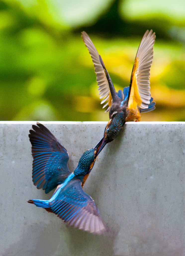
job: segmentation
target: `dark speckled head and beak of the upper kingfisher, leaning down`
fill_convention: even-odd
[[[107,126],[105,127],[104,136],[102,138],[102,142],[100,146],[97,149],[96,157],[107,143],[113,141],[117,137],[124,123],[125,123],[125,112],[114,111],[111,115],[111,119],[109,120]]]

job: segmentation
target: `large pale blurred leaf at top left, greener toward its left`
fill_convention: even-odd
[[[44,23],[76,27],[92,24],[112,0],[17,0]],[[47,18],[46,16],[47,15]]]

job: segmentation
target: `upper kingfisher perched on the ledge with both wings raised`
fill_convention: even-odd
[[[142,112],[149,112],[155,109],[155,102],[150,94],[150,68],[153,60],[153,45],[155,33],[147,30],[140,42],[134,66],[131,73],[130,85],[118,92],[115,91],[112,80],[99,55],[96,47],[85,31],[82,32],[82,39],[90,53],[94,64],[96,81],[101,104],[109,111],[109,122],[105,127],[102,143],[98,152],[109,142],[113,141],[125,122],[140,121]]]

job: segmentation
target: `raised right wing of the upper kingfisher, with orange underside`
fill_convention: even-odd
[[[147,30],[139,45],[130,79],[128,108],[148,109],[150,104],[150,68],[153,59],[155,33]]]

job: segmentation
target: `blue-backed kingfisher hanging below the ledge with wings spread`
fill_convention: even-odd
[[[56,188],[49,200],[31,199],[29,203],[55,213],[63,222],[101,234],[107,231],[95,201],[84,192],[83,185],[95,163],[101,141],[81,156],[74,172],[68,168],[69,154],[55,136],[42,124],[32,125],[33,183],[47,194]]]

